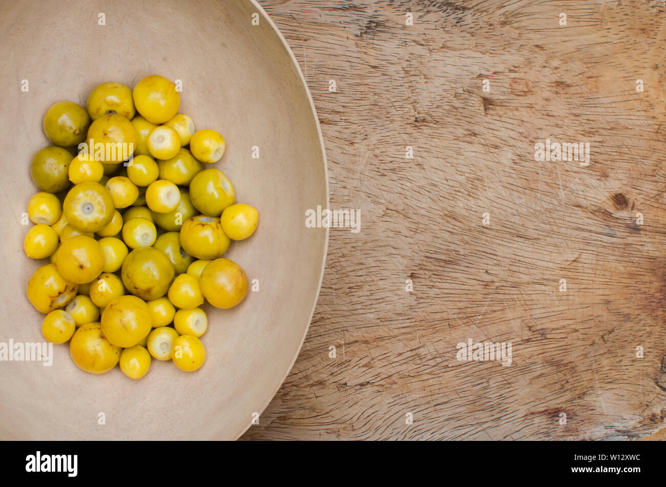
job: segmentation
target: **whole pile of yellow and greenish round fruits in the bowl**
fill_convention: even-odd
[[[153,75],[133,90],[105,82],[86,108],[62,101],[44,116],[54,145],[31,163],[41,192],[23,248],[50,263],[27,295],[46,315],[45,339],[69,341],[84,371],[120,363],[141,379],[151,356],[195,371],[206,358],[204,299],[226,309],[248,292],[242,267],[222,255],[254,233],[258,212],[236,204],[222,171],[204,169],[224,138],[195,130],[179,106],[176,85]]]

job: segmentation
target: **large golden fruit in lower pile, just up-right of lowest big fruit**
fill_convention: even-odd
[[[136,296],[120,296],[102,313],[102,333],[117,347],[134,347],[153,327],[148,306]]]

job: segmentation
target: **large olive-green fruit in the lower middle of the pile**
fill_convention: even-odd
[[[131,251],[121,274],[127,290],[146,301],[163,297],[176,275],[164,252],[153,247]]]

